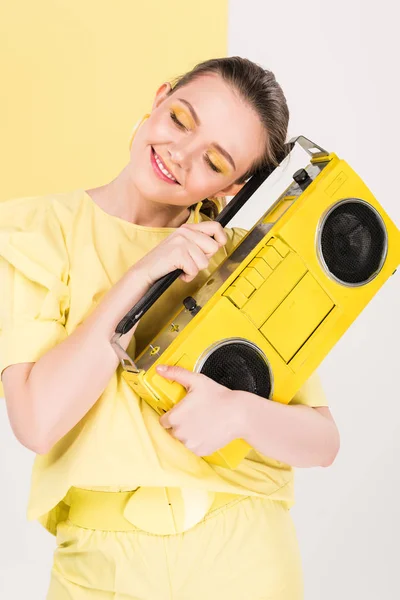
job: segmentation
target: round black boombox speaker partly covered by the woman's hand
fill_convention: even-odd
[[[210,349],[199,372],[231,390],[252,392],[263,398],[271,394],[271,372],[266,359],[257,346],[246,340],[226,340]]]

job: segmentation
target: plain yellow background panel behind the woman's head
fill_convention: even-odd
[[[227,0],[0,0],[0,200],[112,180],[157,88],[227,55],[227,17]]]

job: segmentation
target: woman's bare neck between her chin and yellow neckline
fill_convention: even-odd
[[[110,183],[88,190],[106,212],[144,227],[179,227],[189,217],[189,209],[160,204],[143,198],[128,177],[126,166]]]

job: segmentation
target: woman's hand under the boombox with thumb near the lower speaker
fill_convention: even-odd
[[[160,417],[161,425],[186,448],[208,456],[241,437],[242,403],[233,390],[182,367],[162,371],[158,366],[157,372],[187,390],[183,400]]]

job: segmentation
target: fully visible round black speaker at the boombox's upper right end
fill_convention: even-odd
[[[325,216],[319,235],[319,254],[340,283],[362,285],[382,268],[387,233],[379,213],[363,200],[336,204]]]

